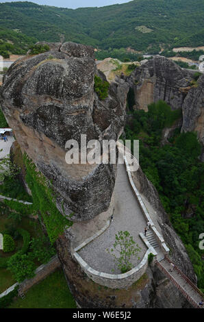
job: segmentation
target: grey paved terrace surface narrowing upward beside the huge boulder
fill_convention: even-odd
[[[114,221],[101,236],[86,245],[86,247],[82,248],[78,253],[93,269],[103,273],[117,274],[120,273],[120,271],[116,268],[114,258],[110,256],[105,249],[112,248],[115,241],[115,234],[118,231],[127,230],[131,236],[133,236],[133,240],[135,240],[142,249],[139,255],[141,259],[132,259],[131,262],[133,267],[142,260],[144,253],[146,253],[147,250],[139,236],[140,232],[144,232],[146,221],[136,197],[131,190],[125,164],[118,164],[114,193]],[[114,272],[112,269],[114,269]]]

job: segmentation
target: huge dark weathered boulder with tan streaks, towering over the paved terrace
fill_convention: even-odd
[[[67,164],[65,144],[75,139],[81,148],[81,134],[87,141],[117,140],[125,123],[128,85],[118,79],[101,101],[94,92],[99,73],[94,49],[73,42],[53,48],[10,67],[1,106],[21,149],[53,183],[60,212],[74,213],[73,221],[88,220],[109,207],[116,167]]]

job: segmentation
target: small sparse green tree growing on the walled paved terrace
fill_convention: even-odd
[[[114,254],[114,250],[120,254],[119,257]],[[118,269],[120,269],[121,273],[131,270],[131,257],[136,256],[139,260],[140,257],[138,257],[138,253],[140,251],[141,248],[138,246],[138,244],[136,244],[136,242],[133,240],[133,237],[129,234],[129,232],[127,232],[127,230],[125,232],[118,232],[118,234],[116,234],[114,248],[110,250],[107,249],[107,252],[110,253],[117,262]]]

